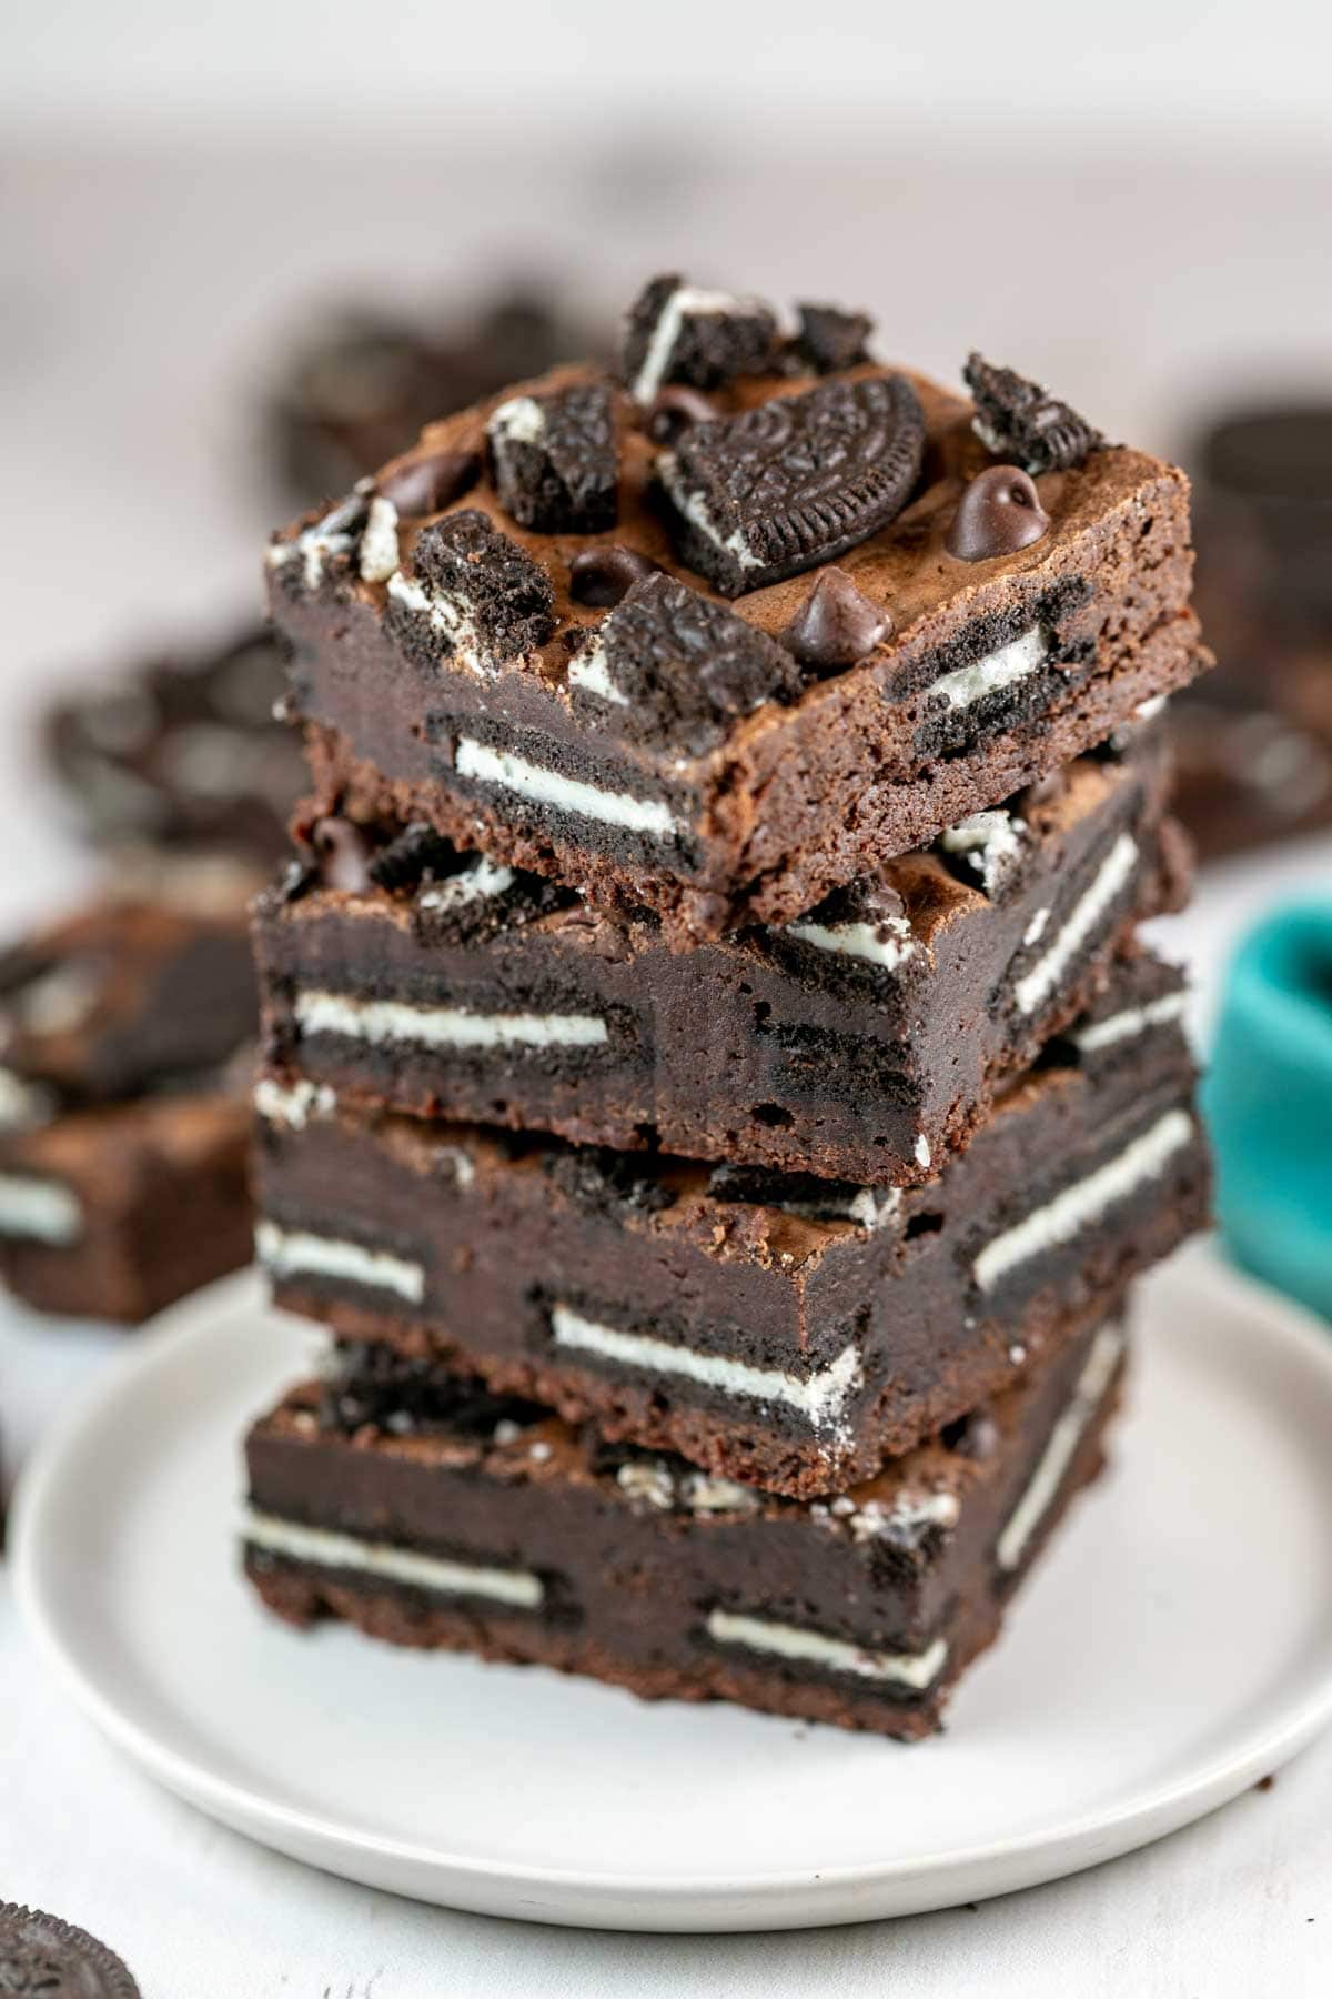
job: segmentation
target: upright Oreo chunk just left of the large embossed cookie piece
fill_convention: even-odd
[[[601,534],[615,526],[615,392],[603,382],[511,396],[485,434],[495,492],[521,528]]]

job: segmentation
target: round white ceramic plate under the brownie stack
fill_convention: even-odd
[[[240,1433],[310,1327],[178,1307],[20,1495],[30,1629],[172,1791],[495,1915],[783,1929],[1048,1881],[1198,1817],[1332,1713],[1332,1339],[1206,1245],[1140,1303],[1116,1467],[919,1747],[288,1631],[232,1551]]]

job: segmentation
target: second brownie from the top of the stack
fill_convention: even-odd
[[[347,1103],[921,1181],[1090,1001],[1126,928],[1178,904],[1166,782],[1154,724],[797,924],[689,954],[651,912],[417,826],[355,890],[312,868],[258,904],[266,1059]]]

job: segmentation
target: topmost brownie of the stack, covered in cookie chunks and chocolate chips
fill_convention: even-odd
[[[1204,664],[1188,486],[979,356],[655,280],[621,378],[429,426],[268,552],[324,810],[671,938],[791,922]]]

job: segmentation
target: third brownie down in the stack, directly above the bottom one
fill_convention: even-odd
[[[264,1077],[260,1259],[280,1305],[343,1339],[725,1477],[837,1491],[1202,1225],[1178,992],[1126,962],[913,1189],[351,1111]],[[1124,1015],[1134,1031],[1076,1039]]]

